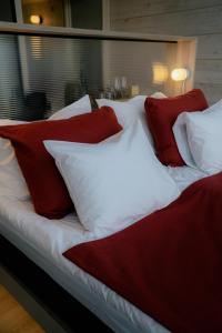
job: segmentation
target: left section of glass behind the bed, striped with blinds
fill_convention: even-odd
[[[0,118],[38,120],[102,87],[99,40],[0,34]]]

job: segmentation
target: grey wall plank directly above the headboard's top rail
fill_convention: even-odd
[[[175,2],[176,3],[176,2]],[[175,4],[176,6],[176,4]],[[111,19],[111,27],[121,31],[199,36],[221,33],[222,4],[173,13],[137,17],[137,12],[124,20]]]

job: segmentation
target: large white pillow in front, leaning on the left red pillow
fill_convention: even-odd
[[[50,140],[44,145],[87,230],[123,229],[180,194],[139,121],[98,144]]]

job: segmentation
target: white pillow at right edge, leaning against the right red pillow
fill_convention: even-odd
[[[209,174],[222,171],[222,100],[202,112],[183,112],[173,131],[188,165]]]

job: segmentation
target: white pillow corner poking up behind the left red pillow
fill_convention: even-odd
[[[89,94],[53,113],[49,120],[68,119],[92,111]]]

